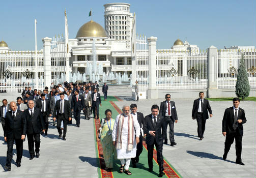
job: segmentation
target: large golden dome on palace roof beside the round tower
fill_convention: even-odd
[[[76,38],[79,37],[107,37],[107,34],[99,23],[91,20],[79,28]]]

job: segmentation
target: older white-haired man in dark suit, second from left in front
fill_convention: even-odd
[[[30,160],[35,158],[34,142],[36,146],[36,157],[39,158],[40,154],[40,132],[45,131],[45,120],[43,118],[40,108],[34,108],[34,102],[32,100],[27,102],[29,108],[27,108],[23,116],[26,119],[26,135],[27,142],[29,144]],[[45,132],[47,133],[47,132]]]

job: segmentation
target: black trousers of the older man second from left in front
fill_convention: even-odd
[[[27,135],[27,142],[29,143],[29,152],[30,156],[35,156],[34,150],[34,142],[36,146],[36,153],[40,151],[40,133],[33,133],[33,134],[26,134]]]

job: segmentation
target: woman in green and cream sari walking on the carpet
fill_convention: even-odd
[[[113,168],[113,152],[115,146],[112,143],[112,131],[115,124],[115,120],[111,118],[112,111],[110,109],[105,110],[106,118],[102,118],[100,121],[101,136],[98,138],[100,129],[97,132],[97,141],[101,141],[103,148],[103,157],[105,161],[105,170],[110,171]]]

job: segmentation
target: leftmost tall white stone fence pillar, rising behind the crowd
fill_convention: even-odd
[[[51,85],[51,38],[42,38],[44,48],[44,87]]]

